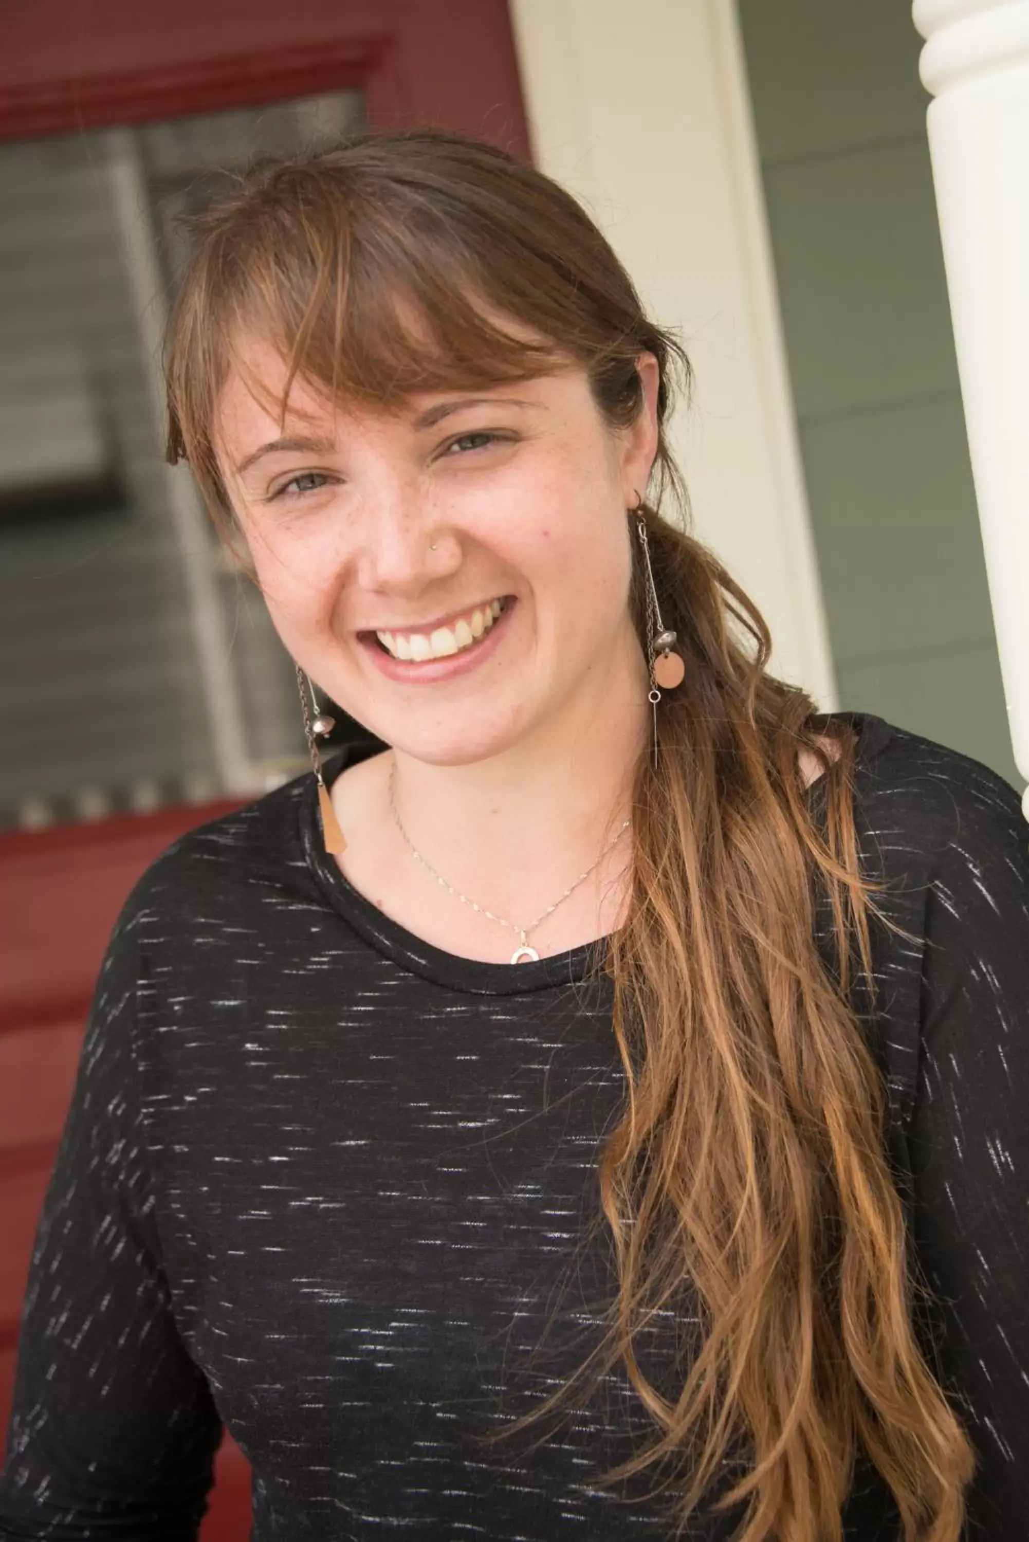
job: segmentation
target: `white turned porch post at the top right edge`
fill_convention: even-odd
[[[1029,779],[1029,0],[915,0],[1015,762]],[[1023,799],[1029,819],[1029,788]]]

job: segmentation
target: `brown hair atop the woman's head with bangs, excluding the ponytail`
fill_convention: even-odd
[[[170,461],[188,460],[218,518],[218,396],[258,335],[330,399],[395,409],[423,392],[579,364],[616,424],[640,407],[636,359],[676,344],[579,204],[503,151],[438,131],[358,136],[258,162],[187,221],[193,258],[167,348]],[[250,381],[258,393],[261,382]],[[660,412],[666,407],[662,384]]]

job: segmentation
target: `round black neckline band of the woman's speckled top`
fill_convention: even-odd
[[[889,725],[870,712],[833,712],[827,715],[841,717],[858,729],[858,769],[864,769],[890,737]],[[381,754],[384,749],[389,749],[389,745],[370,734],[352,740],[326,763],[322,771],[326,786],[332,788],[336,777],[349,766]],[[818,777],[805,788],[804,796],[816,797],[821,783],[822,779]],[[595,968],[606,951],[608,938],[605,936],[528,964],[492,964],[447,953],[384,914],[378,905],[350,884],[339,864],[322,845],[318,786],[313,777],[307,777],[298,805],[298,819],[304,857],[332,908],[378,953],[437,985],[477,996],[514,996],[560,985],[577,985]]]

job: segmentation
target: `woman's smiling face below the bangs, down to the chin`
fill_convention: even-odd
[[[218,458],[258,583],[299,666],[373,734],[438,765],[503,752],[645,666],[626,509],[656,452],[612,432],[586,375],[341,407],[267,344],[219,399]],[[256,399],[245,378],[258,379]]]

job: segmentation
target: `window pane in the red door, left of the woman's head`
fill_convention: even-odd
[[[0,146],[0,822],[302,768],[290,660],[164,466],[154,342],[174,216],[363,116],[341,93]]]

